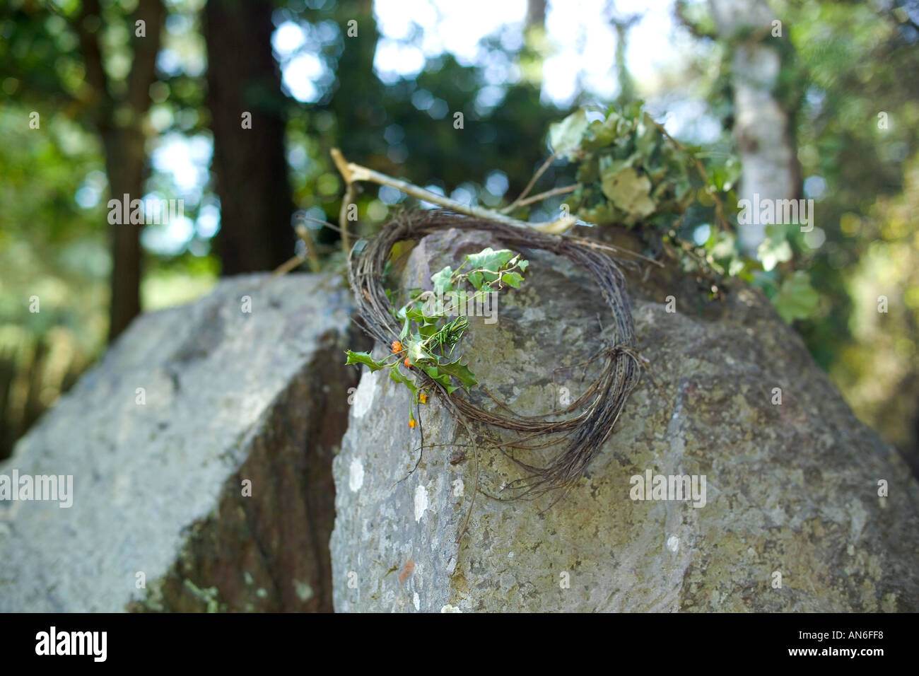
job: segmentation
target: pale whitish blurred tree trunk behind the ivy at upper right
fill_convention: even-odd
[[[777,94],[782,67],[789,63],[788,36],[774,35],[776,16],[766,0],[709,0],[709,6],[718,39],[732,52],[734,137],[743,166],[738,199],[753,201],[754,193],[761,200],[797,199],[797,104]],[[766,236],[766,224],[741,225],[739,235],[744,251],[754,254]]]

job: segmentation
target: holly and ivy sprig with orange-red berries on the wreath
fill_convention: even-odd
[[[494,250],[491,247],[482,249],[477,254],[470,254],[453,270],[450,266],[431,275],[433,291],[414,289],[409,293],[410,300],[398,311],[397,319],[402,320],[403,329],[398,340],[392,341],[392,355],[375,360],[369,352],[346,350],[346,364],[364,364],[371,372],[389,369],[390,378],[403,384],[412,395],[409,405],[409,425],[414,427],[412,405],[425,404],[427,395],[415,384],[411,375],[412,369],[420,369],[432,380],[441,384],[448,394],[453,394],[459,387],[467,391],[478,381],[469,367],[459,359],[450,360],[453,349],[469,328],[469,317],[463,314],[462,302],[469,304],[481,302],[486,293],[495,292],[505,285],[517,288],[523,281],[523,271],[529,261],[520,258],[509,249]],[[468,272],[460,270],[467,268]],[[471,294],[467,287],[474,290]],[[393,293],[389,290],[391,298]],[[443,303],[444,300],[447,303]],[[459,315],[448,321],[448,316]],[[400,370],[400,364],[409,369],[409,375]],[[454,382],[459,384],[454,384]]]

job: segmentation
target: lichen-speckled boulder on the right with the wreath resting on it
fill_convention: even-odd
[[[486,245],[487,235],[430,235],[404,282]],[[608,324],[584,274],[528,258],[498,321],[472,317],[463,341],[471,370],[520,415],[584,391],[596,373],[582,380],[574,365]],[[336,611],[919,610],[919,486],[901,458],[760,292],[735,284],[712,302],[673,268],[630,274],[637,347],[657,386],[642,378],[560,501],[480,493],[459,544],[476,475],[465,433],[437,401],[423,407],[413,472],[408,393],[385,372],[362,375],[334,462]],[[490,406],[481,388],[471,396]],[[521,475],[487,447],[480,463],[479,487],[495,497]],[[634,477],[649,473],[652,486],[687,475],[699,490],[704,476],[704,505],[633,499]]]

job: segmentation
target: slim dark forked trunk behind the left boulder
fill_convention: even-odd
[[[86,82],[93,89],[93,120],[102,138],[112,199],[143,197],[147,166],[143,123],[150,109],[150,86],[156,81],[156,54],[165,18],[161,0],[140,0],[127,26],[133,62],[123,97],[115,97],[103,64],[99,34],[103,26],[99,0],[85,0],[74,29],[83,52]],[[143,22],[142,35],[137,21]],[[108,340],[114,340],[141,313],[141,226],[111,225],[112,274]]]

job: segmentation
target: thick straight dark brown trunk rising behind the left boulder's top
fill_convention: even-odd
[[[287,99],[271,50],[272,8],[267,0],[208,0],[204,8],[224,275],[273,269],[294,254]]]

